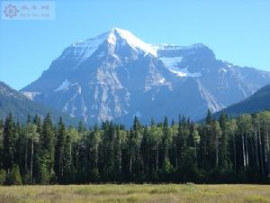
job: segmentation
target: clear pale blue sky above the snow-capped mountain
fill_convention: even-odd
[[[0,20],[0,80],[15,89],[38,78],[72,42],[112,26],[149,43],[202,42],[218,59],[270,71],[269,0],[54,2],[55,20]]]

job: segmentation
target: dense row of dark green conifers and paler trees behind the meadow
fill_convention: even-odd
[[[0,184],[270,181],[270,112],[86,129],[50,115],[0,121]]]

